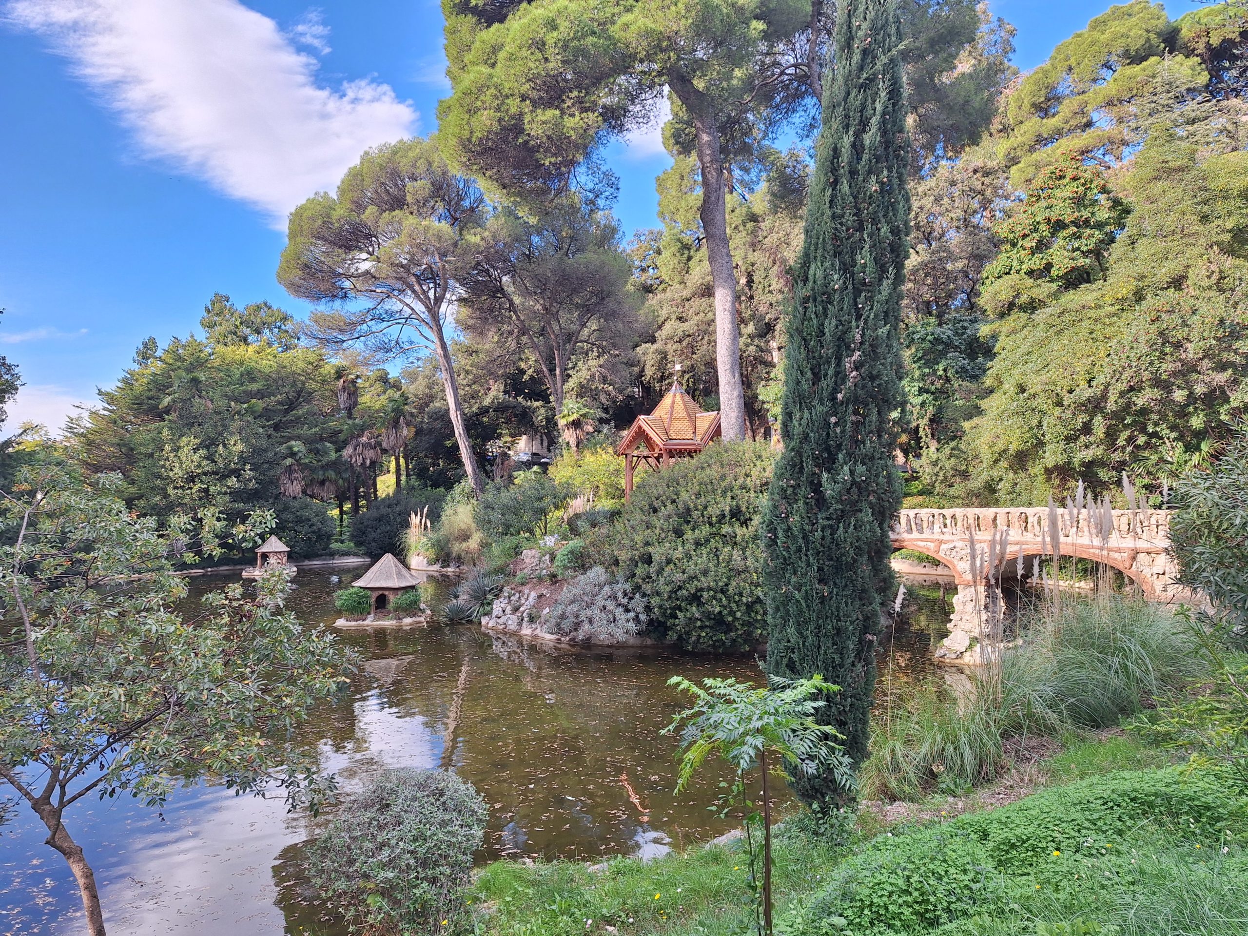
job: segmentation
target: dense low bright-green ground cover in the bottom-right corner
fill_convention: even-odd
[[[1226,862],[1219,869],[1226,881],[1206,882],[1206,889],[1216,900],[1233,900],[1248,892],[1246,869],[1218,852],[1248,829],[1246,820],[1244,800],[1216,773],[1189,776],[1171,769],[1091,778],[991,812],[877,839],[836,869],[785,932],[1020,932],[1018,924],[1035,920],[1046,905],[1061,907],[1052,922],[1082,916],[1109,925],[1126,910],[1119,901],[1138,900],[1146,875],[1163,870],[1154,862],[1171,865],[1164,869],[1171,874],[1182,869],[1184,876],[1213,871],[1199,862],[1199,846],[1216,865]],[[1241,846],[1236,849],[1238,859]],[[1154,891],[1158,884],[1154,879],[1142,890]],[[1161,894],[1149,896],[1162,900]],[[1169,929],[1182,904],[1173,900],[1171,906],[1171,914],[1146,922],[1156,929],[1139,931],[1183,931]],[[1233,932],[1242,919],[1233,904],[1217,910],[1191,922],[1202,932]],[[968,925],[948,927],[958,920]]]

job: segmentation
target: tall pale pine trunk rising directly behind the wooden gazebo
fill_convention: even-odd
[[[745,439],[745,387],[741,382],[741,333],[736,323],[736,273],[728,242],[728,186],[719,151],[719,122],[706,100],[684,75],[669,85],[694,117],[701,172],[701,222],[706,261],[715,293],[715,364],[719,371],[719,424],[725,442]]]

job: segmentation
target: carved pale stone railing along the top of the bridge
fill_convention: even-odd
[[[1048,539],[1048,527],[1056,517],[1063,540],[1122,543],[1142,540],[1152,547],[1169,545],[1169,510],[1111,510],[1092,508],[1067,510],[1047,507],[919,508],[899,510],[892,524],[894,539],[907,537],[935,539],[987,539],[996,530],[1008,529],[1011,543]],[[1108,529],[1108,537],[1106,530]]]

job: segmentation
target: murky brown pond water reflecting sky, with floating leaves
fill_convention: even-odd
[[[308,623],[338,617],[332,592],[363,569],[305,569],[291,605]],[[192,595],[232,577],[192,579]],[[904,622],[881,640],[880,679],[890,685],[931,671],[931,643],[948,607],[938,588],[911,589]],[[569,651],[441,625],[339,631],[364,659],[334,704],[303,728],[344,792],[394,766],[453,768],[489,802],[479,860],[507,856],[593,859],[659,855],[733,825],[708,806],[719,776],[680,797],[676,746],[660,734],[681,708],[665,683],[736,676],[758,681],[751,656],[666,651]],[[882,688],[882,686],[881,686]],[[46,830],[0,787],[0,936],[77,934],[81,905]],[[96,871],[109,932],[271,936],[323,934],[301,877],[307,815],[281,800],[238,797],[192,784],[161,811],[130,799],[86,799],[70,831]]]

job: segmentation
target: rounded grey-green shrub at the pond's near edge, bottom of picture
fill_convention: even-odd
[[[463,889],[485,819],[456,774],[387,770],[308,846],[308,877],[352,930],[470,932]]]

